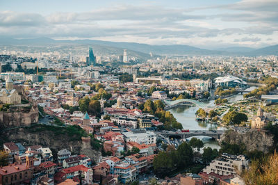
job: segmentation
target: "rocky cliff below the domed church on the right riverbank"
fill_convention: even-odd
[[[236,131],[226,131],[220,138],[220,142],[231,144],[243,143],[248,151],[259,150],[268,152],[274,145],[273,135],[264,131],[250,130],[245,134],[238,134]]]

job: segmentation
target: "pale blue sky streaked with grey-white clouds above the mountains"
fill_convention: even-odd
[[[265,47],[278,44],[278,1],[0,0],[0,36]]]

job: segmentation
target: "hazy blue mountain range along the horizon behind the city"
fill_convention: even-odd
[[[148,58],[149,53],[154,55],[227,55],[227,56],[266,56],[278,55],[278,45],[253,49],[250,47],[227,47],[217,50],[201,49],[188,45],[146,45],[134,42],[109,42],[101,40],[54,40],[51,38],[35,39],[14,39],[1,38],[0,45],[21,45],[46,46],[46,45],[92,45],[94,50],[101,48],[101,53],[108,49],[108,53],[122,54],[122,49],[127,49],[130,53]]]

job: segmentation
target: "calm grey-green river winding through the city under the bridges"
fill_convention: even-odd
[[[254,86],[247,88],[247,90],[254,90]],[[243,95],[237,94],[231,97],[227,97],[229,102],[237,102],[243,99]],[[214,100],[207,102],[207,104],[214,105]],[[174,115],[174,118],[177,119],[183,126],[183,129],[189,130],[208,130],[208,129],[226,129],[224,127],[220,127],[216,124],[209,124],[206,122],[197,122],[195,120],[196,116],[195,113],[199,108],[197,106],[179,106],[176,108],[170,109],[170,113]],[[220,146],[218,145],[216,140],[211,140],[208,137],[198,136],[198,138],[202,138],[204,142],[204,147],[212,147],[219,149]]]

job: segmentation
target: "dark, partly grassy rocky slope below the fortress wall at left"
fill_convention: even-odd
[[[49,147],[56,156],[58,150],[67,149],[72,154],[85,154],[94,161],[98,161],[101,153],[92,147],[84,147],[82,140],[72,140],[67,134],[54,134],[53,131],[38,131],[33,133],[27,128],[3,131],[0,140],[4,142],[22,143],[24,146],[42,145]]]

